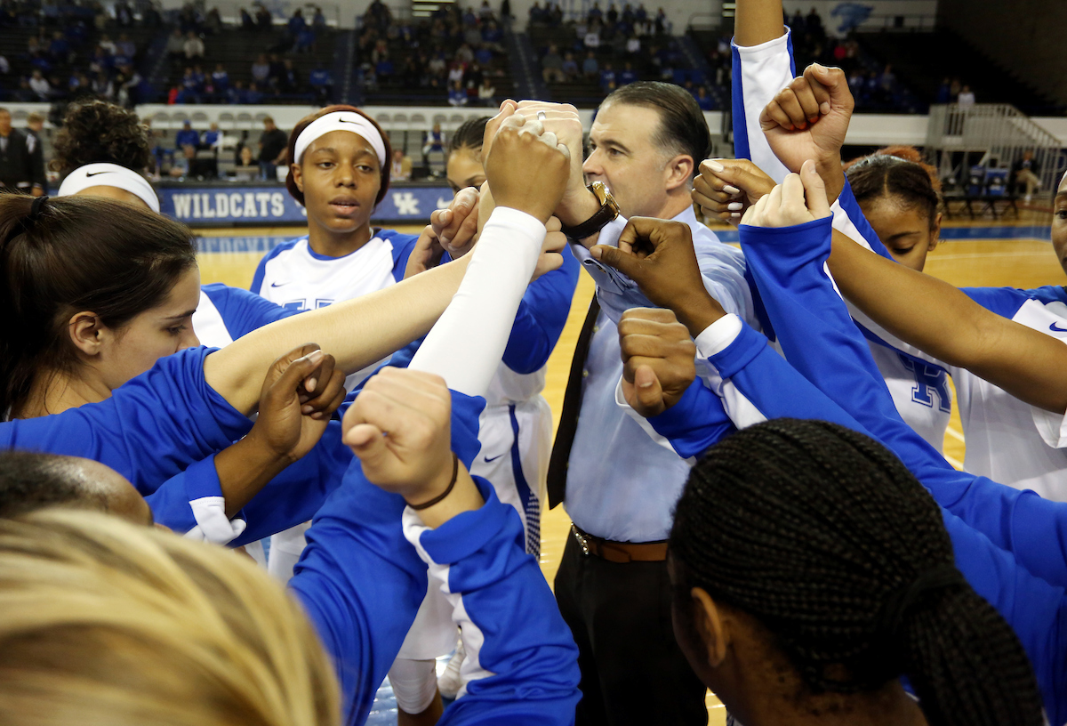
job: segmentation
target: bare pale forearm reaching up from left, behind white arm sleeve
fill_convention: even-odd
[[[466,257],[355,300],[278,320],[211,353],[207,383],[243,413],[255,410],[262,379],[282,353],[317,343],[337,367],[354,373],[426,335],[448,306],[466,271]]]

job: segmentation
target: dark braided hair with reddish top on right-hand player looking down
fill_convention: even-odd
[[[845,164],[845,176],[856,201],[895,196],[902,204],[923,210],[933,230],[941,210],[941,179],[923,163],[914,146],[887,146]]]

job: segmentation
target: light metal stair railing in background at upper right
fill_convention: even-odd
[[[1022,111],[1008,104],[930,106],[926,154],[942,178],[964,177],[972,163],[1010,169],[1025,151],[1034,153],[1041,189],[1052,189],[1064,165],[1060,140]]]

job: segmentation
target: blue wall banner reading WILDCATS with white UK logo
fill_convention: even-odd
[[[306,224],[307,212],[284,187],[163,187],[160,211],[190,226],[214,224]],[[376,222],[429,222],[430,214],[448,206],[446,186],[389,187],[375,210]]]

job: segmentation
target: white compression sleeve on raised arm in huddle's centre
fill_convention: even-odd
[[[453,391],[484,396],[504,357],[544,236],[544,224],[537,218],[496,207],[459,290],[409,367],[442,376]]]

